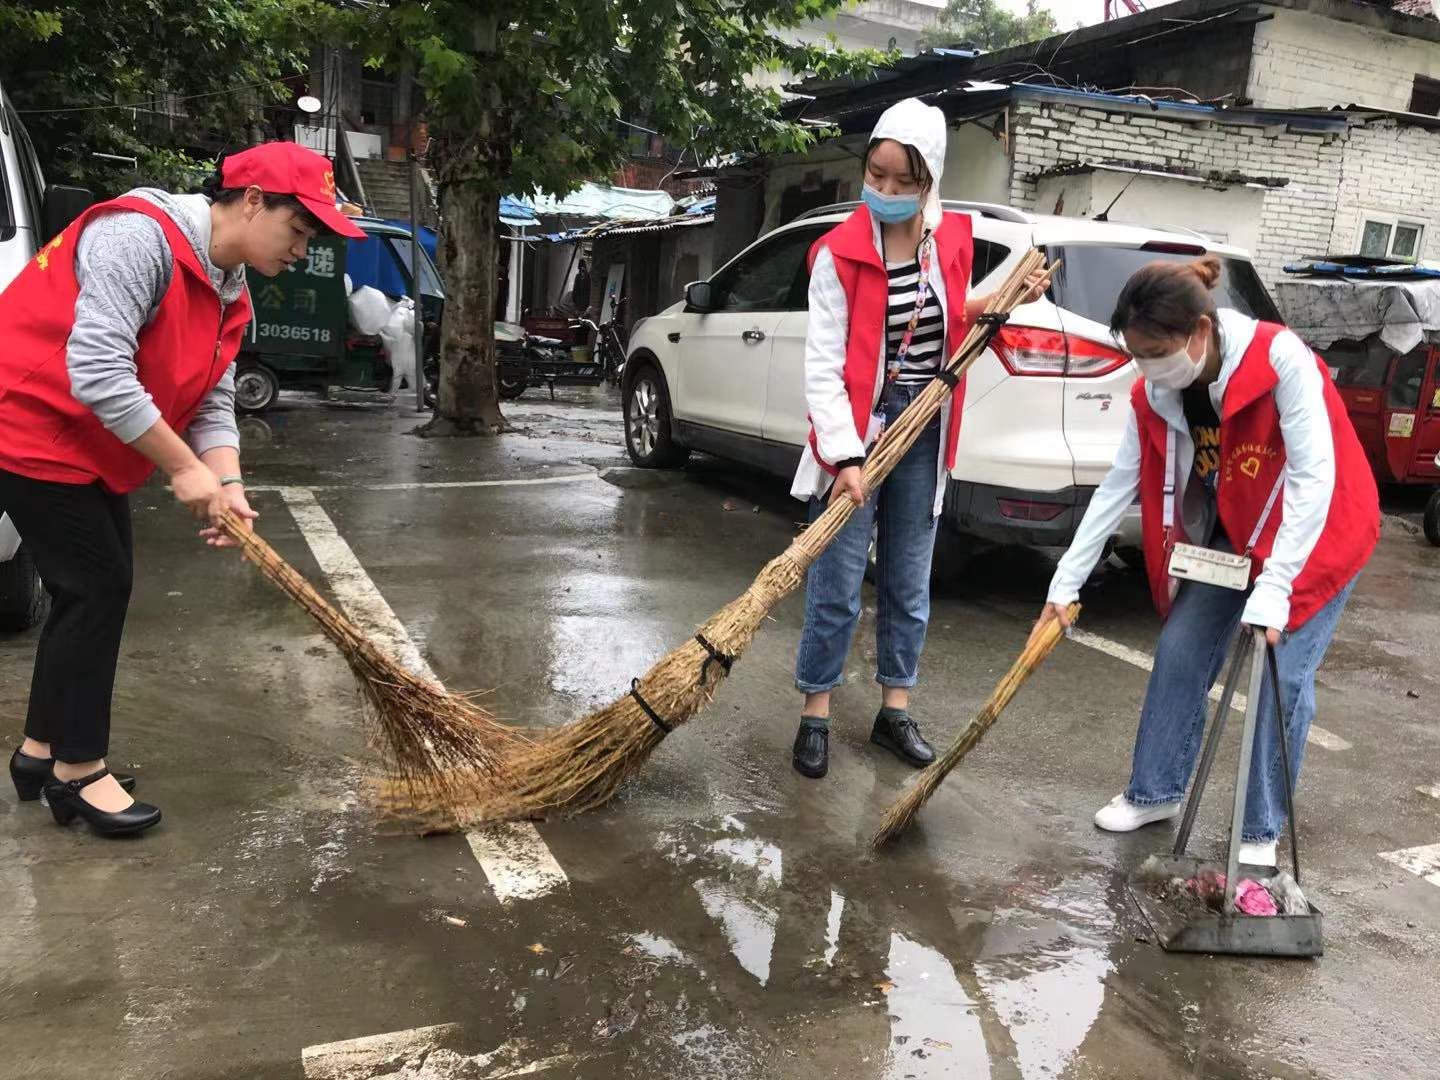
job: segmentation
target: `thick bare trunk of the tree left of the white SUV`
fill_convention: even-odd
[[[500,199],[461,180],[442,189],[439,408],[423,435],[497,435],[507,429],[495,387],[495,287]]]

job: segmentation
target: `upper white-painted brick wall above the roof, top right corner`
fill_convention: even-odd
[[[1440,78],[1440,43],[1270,9],[1256,24],[1250,96],[1261,108],[1410,108],[1416,75]]]

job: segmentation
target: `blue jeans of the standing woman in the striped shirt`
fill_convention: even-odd
[[[924,384],[891,383],[881,408],[894,423]],[[805,629],[795,660],[795,687],[805,694],[845,681],[845,657],[860,622],[860,588],[876,533],[876,681],[913,687],[930,622],[930,557],[935,554],[935,484],[940,422],[932,422],[886,477],[880,490],[855,507],[850,521],[805,580]],[[829,505],[811,500],[814,521]]]

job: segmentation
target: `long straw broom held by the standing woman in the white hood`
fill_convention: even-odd
[[[1044,266],[1044,255],[1028,251],[995,289],[985,315],[971,327],[942,374],[916,396],[865,458],[861,482],[867,494],[880,485],[940,412],[958,379],[989,344],[1005,315],[1024,300],[1028,275]],[[766,613],[801,585],[809,564],[852,511],[848,498],[831,503],[789,549],[766,564],[743,595],[713,615],[694,638],[632,680],[629,693],[618,701],[521,749],[507,763],[500,783],[477,789],[467,804],[431,809],[495,821],[579,814],[609,801],[667,734],[711,700]],[[446,793],[451,791],[454,788]]]

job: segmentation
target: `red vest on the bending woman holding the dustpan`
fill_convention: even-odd
[[[1215,507],[1220,526],[1236,552],[1244,552],[1246,541],[1264,513],[1264,505],[1284,468],[1284,438],[1280,433],[1280,412],[1274,403],[1279,377],[1270,364],[1270,344],[1284,327],[1261,323],[1254,340],[1240,360],[1220,418],[1220,482]],[[1325,380],[1325,410],[1335,441],[1335,491],[1329,514],[1315,550],[1295,579],[1290,593],[1290,625],[1296,629],[1315,612],[1329,603],[1369,560],[1380,540],[1380,495],[1375,478],[1359,445],[1349,413],[1331,382],[1329,369],[1315,357]],[[1145,547],[1145,569],[1151,579],[1151,595],[1161,615],[1169,613],[1171,579],[1166,572],[1169,546],[1185,543],[1179,521],[1172,536],[1165,536],[1165,419],[1151,408],[1145,396],[1145,380],[1130,387],[1135,419],[1140,432],[1140,533]],[[1178,513],[1176,513],[1178,517]],[[1264,560],[1274,546],[1274,536],[1284,517],[1283,500],[1276,501],[1251,556],[1253,582],[1264,569]]]

